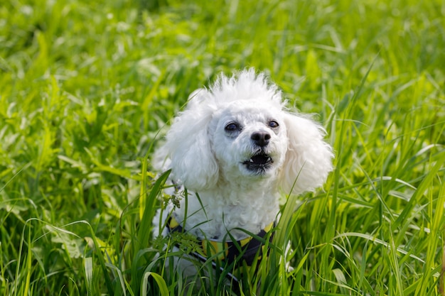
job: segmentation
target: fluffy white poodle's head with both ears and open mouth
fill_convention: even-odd
[[[300,193],[321,186],[332,170],[323,136],[311,119],[286,111],[277,86],[251,69],[193,92],[163,152],[173,178],[190,190],[267,179]]]

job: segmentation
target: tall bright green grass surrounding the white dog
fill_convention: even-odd
[[[256,67],[336,150],[287,199],[262,295],[445,295],[444,48],[441,0],[2,3],[0,294],[186,291],[147,157],[194,89]]]

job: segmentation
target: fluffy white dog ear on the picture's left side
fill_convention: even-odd
[[[193,191],[213,187],[218,180],[218,163],[210,146],[208,127],[214,108],[206,89],[193,92],[188,105],[166,135],[166,156],[171,160],[173,179]],[[161,148],[162,149],[162,148]]]

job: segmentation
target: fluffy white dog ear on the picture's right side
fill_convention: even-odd
[[[288,137],[280,179],[284,193],[299,194],[321,187],[333,170],[331,146],[323,141],[326,131],[304,116],[285,113]]]

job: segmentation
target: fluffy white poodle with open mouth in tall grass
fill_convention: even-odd
[[[309,116],[286,108],[264,74],[220,75],[191,94],[155,153],[176,188],[188,190],[179,207],[155,217],[155,236],[180,229],[198,240],[240,242],[269,229],[280,192],[300,194],[326,181],[333,153],[324,135]]]

